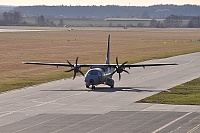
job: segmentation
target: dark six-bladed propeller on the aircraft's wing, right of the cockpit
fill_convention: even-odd
[[[129,72],[125,70],[125,66],[124,66],[124,65],[125,65],[126,63],[128,63],[128,61],[126,61],[126,62],[124,62],[123,64],[119,65],[119,63],[118,63],[118,57],[116,57],[116,64],[117,64],[117,65],[115,66],[115,71],[112,72],[111,75],[113,75],[113,74],[116,73],[116,72],[119,73],[119,80],[120,80],[120,79],[121,79],[121,73],[122,73],[122,72],[126,72],[126,73],[129,74]]]

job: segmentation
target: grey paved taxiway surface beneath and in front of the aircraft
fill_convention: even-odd
[[[179,65],[127,69],[114,89],[77,77],[2,93],[0,133],[199,133],[200,106],[135,102],[200,77],[200,52],[143,63]]]

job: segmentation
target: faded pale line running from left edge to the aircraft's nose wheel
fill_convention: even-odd
[[[66,97],[61,97],[61,98],[58,98],[58,99],[55,99],[55,100],[52,100],[52,101],[48,101],[48,102],[40,103],[40,104],[37,104],[37,105],[29,106],[29,107],[26,107],[26,108],[18,109],[18,110],[15,110],[15,111],[11,111],[9,113],[0,115],[0,118],[7,116],[7,115],[11,115],[11,114],[16,113],[16,112],[21,112],[21,111],[31,109],[31,108],[34,108],[34,107],[40,107],[40,106],[43,106],[43,105],[46,105],[46,104],[54,103],[58,100],[62,100],[62,99],[69,98],[69,97],[72,97],[72,96],[78,96],[78,95],[81,95],[81,94],[84,94],[84,93],[86,93],[86,92],[76,93],[76,94],[69,95],[69,96],[66,96]]]

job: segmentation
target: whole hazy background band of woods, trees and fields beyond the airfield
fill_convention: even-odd
[[[59,27],[200,28],[200,6],[1,7],[0,25]]]

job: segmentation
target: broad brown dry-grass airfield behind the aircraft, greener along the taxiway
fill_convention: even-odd
[[[23,65],[24,61],[104,63],[111,33],[111,62],[140,62],[200,51],[199,29],[41,28],[0,32],[0,91],[69,77],[68,68]],[[39,30],[39,31],[37,31]]]

